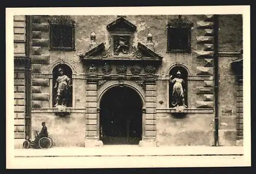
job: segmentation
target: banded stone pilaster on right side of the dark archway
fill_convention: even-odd
[[[139,146],[156,146],[156,82],[146,80],[146,104],[143,113],[143,136]]]

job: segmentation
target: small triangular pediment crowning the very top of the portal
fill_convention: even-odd
[[[108,26],[106,26],[106,29],[110,32],[135,32],[137,27],[124,17],[119,17],[115,21],[109,23]]]

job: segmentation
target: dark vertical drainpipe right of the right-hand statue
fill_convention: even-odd
[[[215,94],[215,134],[214,146],[219,146],[219,57],[218,57],[219,15],[214,15],[214,94]]]

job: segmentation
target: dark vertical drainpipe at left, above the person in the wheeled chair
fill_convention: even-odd
[[[26,46],[25,46],[25,95],[26,95],[26,139],[31,138],[31,63],[30,63],[30,16],[26,16]]]

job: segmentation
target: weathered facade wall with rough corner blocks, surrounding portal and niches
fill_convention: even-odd
[[[89,51],[90,33],[96,33],[96,42],[110,44],[109,33],[106,25],[117,19],[117,16],[70,16],[75,21],[75,51],[50,51],[49,50],[49,16],[31,16],[31,47],[30,57],[32,64],[32,128],[40,129],[42,120],[49,125],[49,132],[56,137],[57,146],[83,146],[82,136],[97,136],[97,87],[86,82],[86,65],[79,60],[79,54]],[[191,29],[191,53],[167,53],[167,29],[168,20],[178,18],[178,15],[137,15],[126,16],[126,19],[137,26],[134,34],[134,45],[138,42],[145,43],[148,33],[152,33],[155,51],[163,56],[162,64],[157,69],[156,85],[151,90],[146,90],[146,124],[150,130],[145,131],[145,136],[156,137],[158,145],[209,145],[214,137],[212,134],[212,119],[214,119],[214,35],[212,15],[182,15],[193,23]],[[236,22],[231,23],[230,16],[220,17],[220,50],[233,51],[229,48],[241,46],[241,16],[233,16]],[[225,23],[228,20],[228,23]],[[224,26],[224,27],[223,27]],[[227,29],[231,30],[228,32]],[[236,29],[236,30],[235,30]],[[238,31],[238,33],[236,33]],[[226,39],[226,33],[232,40],[231,46]],[[228,48],[229,47],[229,48]],[[236,49],[237,49],[236,48]],[[188,110],[183,118],[174,117],[169,109],[168,79],[169,70],[175,63],[181,63],[188,70]],[[67,117],[54,115],[52,107],[52,70],[58,64],[66,64],[72,69],[73,80],[73,106],[71,114]],[[221,129],[233,130],[233,114],[236,110],[234,103],[234,88],[232,73],[229,69],[229,60],[220,60],[220,78],[227,79],[220,86],[220,108],[223,116],[221,122],[228,122],[227,127]],[[113,68],[115,70],[115,68]],[[127,68],[128,70],[130,68]],[[142,70],[143,71],[143,70]],[[130,72],[129,72],[130,73]],[[144,72],[142,72],[144,73]],[[231,82],[228,83],[228,82]],[[91,88],[94,85],[94,88]],[[225,86],[228,85],[228,88]],[[233,86],[232,86],[233,85]],[[149,88],[150,84],[148,84]],[[222,95],[223,94],[223,95]],[[225,94],[225,95],[224,95]],[[94,98],[91,103],[88,98]],[[232,103],[227,103],[232,101]],[[96,104],[95,104],[96,103]],[[74,113],[76,109],[81,113]],[[45,109],[45,110],[44,110]],[[42,110],[42,112],[41,112]],[[86,112],[85,112],[86,110]],[[229,114],[231,110],[231,115]],[[40,111],[40,112],[39,112]],[[45,111],[45,112],[43,112]],[[223,112],[222,112],[223,111]],[[39,112],[39,113],[38,113]],[[80,111],[79,111],[80,112]],[[87,113],[87,114],[86,114]],[[225,115],[226,114],[226,115]],[[225,116],[224,116],[225,115]],[[71,121],[72,120],[72,121]],[[78,127],[73,127],[76,122]],[[53,125],[67,125],[65,128]],[[88,125],[86,127],[86,124]],[[153,125],[153,126],[152,126]],[[225,125],[225,124],[224,124]],[[66,129],[67,128],[67,129]],[[60,139],[61,134],[67,133],[68,128],[78,140],[69,141]],[[60,129],[61,131],[58,131]],[[90,130],[90,131],[86,131]],[[56,133],[55,133],[56,132]],[[81,135],[78,135],[78,132]],[[200,135],[200,136],[197,136]],[[233,137],[227,134],[227,137]],[[74,143],[74,142],[75,143]],[[66,143],[66,144],[65,144]],[[232,144],[227,141],[225,144]]]

